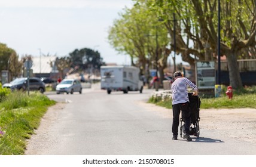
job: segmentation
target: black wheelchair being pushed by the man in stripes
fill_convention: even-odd
[[[191,113],[191,124],[190,124],[190,131],[188,132],[188,134],[194,135],[197,138],[199,138],[199,134],[200,134],[199,111],[200,111],[201,101],[198,95],[192,95],[192,93],[188,93],[188,98],[190,100],[190,113]],[[182,117],[180,120],[181,120],[180,134],[182,137],[182,133],[184,133],[184,130],[185,130],[185,124],[182,125],[182,122],[185,122],[185,120]]]

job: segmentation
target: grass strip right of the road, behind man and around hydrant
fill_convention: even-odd
[[[221,97],[218,98],[204,98],[202,95],[202,97],[200,97],[200,100],[200,109],[256,109],[256,86],[234,91],[232,100],[229,100],[224,93],[222,94]],[[148,103],[153,103],[157,106],[166,107],[167,109],[172,109],[171,98],[151,96],[150,99],[148,100]]]

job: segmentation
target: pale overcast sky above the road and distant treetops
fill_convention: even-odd
[[[108,28],[132,0],[0,1],[0,42],[17,54],[68,55],[75,49],[100,52],[106,63],[129,64],[107,41]]]

